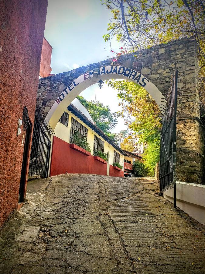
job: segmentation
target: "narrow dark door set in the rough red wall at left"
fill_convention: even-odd
[[[26,187],[26,168],[28,166],[28,160],[29,160],[30,138],[31,138],[31,124],[28,121],[28,128],[26,129],[26,137],[25,137],[24,151],[23,151],[21,180],[20,180],[20,187],[19,187],[19,203],[24,202],[24,192]]]

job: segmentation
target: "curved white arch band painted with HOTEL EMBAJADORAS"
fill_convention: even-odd
[[[50,126],[55,129],[57,122],[59,121],[61,115],[65,109],[70,105],[70,103],[87,87],[96,84],[100,79],[127,79],[140,86],[142,86],[156,101],[156,103],[162,106],[165,97],[158,90],[158,88],[141,73],[136,72],[131,68],[126,68],[123,66],[106,66],[97,68],[98,76],[94,77],[94,69],[84,74],[80,75],[73,82],[70,83],[55,100],[52,107],[50,108],[48,114],[46,115],[46,120],[49,122]]]

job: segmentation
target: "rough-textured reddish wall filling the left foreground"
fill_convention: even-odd
[[[24,106],[34,122],[46,10],[47,0],[1,1],[0,226],[18,205],[23,127],[16,132]]]

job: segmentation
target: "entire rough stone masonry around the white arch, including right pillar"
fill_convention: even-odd
[[[198,92],[198,60],[194,39],[175,40],[144,49],[140,52],[125,54],[118,58],[104,60],[63,72],[39,80],[37,101],[48,113],[61,92],[77,77],[85,72],[109,65],[132,68],[147,77],[166,96],[170,76],[170,62],[180,61],[178,69],[177,99],[177,141],[176,174],[177,180],[200,183],[203,173],[203,133],[200,122]]]

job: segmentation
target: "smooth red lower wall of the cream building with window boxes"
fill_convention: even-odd
[[[53,136],[50,176],[64,173],[107,174],[107,164],[70,148],[70,144]],[[110,176],[124,176],[110,165]]]

